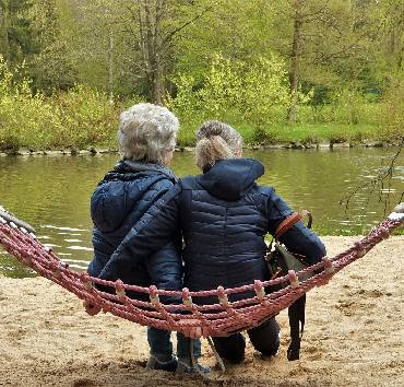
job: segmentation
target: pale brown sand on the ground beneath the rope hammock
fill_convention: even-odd
[[[358,237],[323,237],[329,256]],[[300,360],[288,362],[286,310],[280,354],[248,344],[241,364],[225,363],[217,380],[144,371],[145,327],[85,314],[73,294],[44,279],[1,277],[0,386],[404,386],[403,236],[393,236],[308,293]],[[202,364],[219,375],[203,339]]]

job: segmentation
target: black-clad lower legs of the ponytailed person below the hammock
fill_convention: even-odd
[[[259,327],[249,329],[247,333],[253,348],[262,354],[270,356],[276,354],[280,348],[280,331],[281,328],[275,321],[275,318],[271,318]],[[243,359],[246,339],[241,333],[228,337],[213,337],[212,340],[221,357],[235,363],[241,362]]]

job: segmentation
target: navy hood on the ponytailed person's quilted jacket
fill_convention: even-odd
[[[238,200],[252,187],[256,180],[264,174],[264,166],[253,159],[219,160],[203,175],[195,177],[197,181],[211,195],[224,200]]]

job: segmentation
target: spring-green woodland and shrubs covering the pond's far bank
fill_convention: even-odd
[[[206,119],[247,144],[403,136],[402,0],[0,0],[0,151],[116,143],[138,102],[178,144]]]

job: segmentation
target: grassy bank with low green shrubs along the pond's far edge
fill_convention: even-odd
[[[85,150],[116,148],[119,113],[139,102],[110,102],[97,90],[78,84],[50,96],[32,94],[31,81],[16,82],[0,61],[0,152],[20,149]],[[401,101],[401,99],[400,99]],[[217,105],[212,113],[201,106],[170,102],[180,121],[178,146],[193,146],[194,133],[205,120],[218,119],[235,127],[248,146],[290,144],[313,146],[335,143],[397,142],[403,134],[401,103],[360,99],[360,104],[299,106],[297,124],[285,124],[287,106],[265,107],[257,102],[254,114]]]

